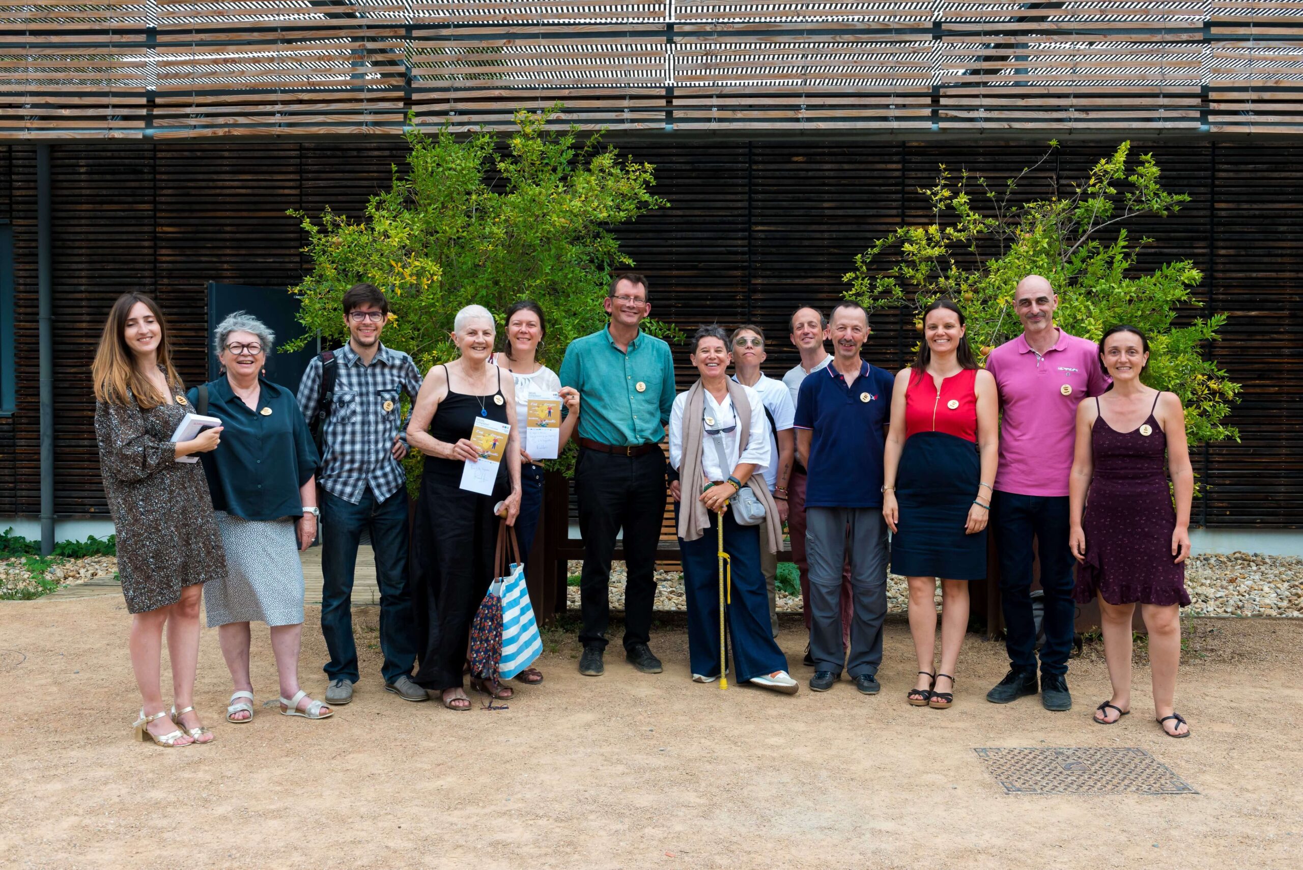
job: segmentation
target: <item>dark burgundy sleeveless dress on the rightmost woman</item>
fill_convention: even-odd
[[[1098,408],[1100,400],[1095,402]],[[1110,604],[1190,604],[1186,565],[1171,555],[1177,509],[1167,488],[1167,440],[1153,408],[1130,432],[1097,414],[1091,452],[1095,475],[1081,516],[1085,561],[1076,569],[1074,598],[1083,604],[1096,595]]]

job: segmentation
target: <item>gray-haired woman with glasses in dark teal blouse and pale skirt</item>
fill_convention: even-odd
[[[304,569],[297,550],[317,537],[317,447],[291,389],[262,376],[275,335],[236,311],[214,331],[223,374],[189,393],[222,421],[222,447],[203,455],[227,576],[208,583],[205,610],[218,628],[235,694],[227,720],[253,719],[249,623],[266,623],[280,673],[280,712],[324,719],[334,711],[298,688]]]

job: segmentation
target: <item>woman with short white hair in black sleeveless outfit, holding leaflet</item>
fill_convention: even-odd
[[[439,692],[450,710],[469,710],[463,664],[470,623],[494,580],[494,505],[504,503],[508,525],[520,511],[520,434],[512,413],[515,386],[487,365],[493,316],[478,305],[463,309],[452,337],[461,356],[426,374],[407,430],[408,444],[425,453],[409,572],[420,655],[413,679]],[[477,419],[511,426],[491,495],[460,486],[465,461],[478,457],[469,440]],[[512,695],[507,686],[474,679],[470,685],[499,699]]]

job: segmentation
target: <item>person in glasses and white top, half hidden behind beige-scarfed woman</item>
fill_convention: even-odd
[[[765,332],[753,323],[745,323],[734,330],[734,380],[751,387],[760,393],[761,405],[765,409],[765,432],[769,436],[769,465],[758,469],[758,474],[765,475],[769,492],[774,496],[774,505],[778,508],[779,524],[787,522],[787,479],[792,473],[792,456],[796,451],[796,434],[792,431],[792,418],[796,406],[792,404],[792,395],[782,380],[767,378],[760,370],[762,362],[769,356],[765,353]],[[754,431],[754,430],[753,430]],[[783,548],[783,542],[778,542],[778,548]],[[769,524],[760,524],[760,569],[765,574],[765,586],[769,590],[769,625],[778,637],[778,596],[774,591],[774,581],[778,577],[778,554],[769,552]]]

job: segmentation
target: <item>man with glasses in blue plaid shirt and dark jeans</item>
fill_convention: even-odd
[[[380,344],[390,305],[371,284],[344,293],[349,341],[334,352],[335,389],[328,415],[321,421],[322,466],[322,634],[330,650],[326,701],[353,699],[358,680],[353,643],[353,569],[362,529],[371,537],[375,580],[380,587],[380,650],[384,689],[407,701],[426,701],[412,681],[416,629],[408,586],[405,426],[399,396],[416,401],[421,372],[412,357]],[[311,423],[321,409],[323,363],[309,363],[298,384],[298,406]]]

